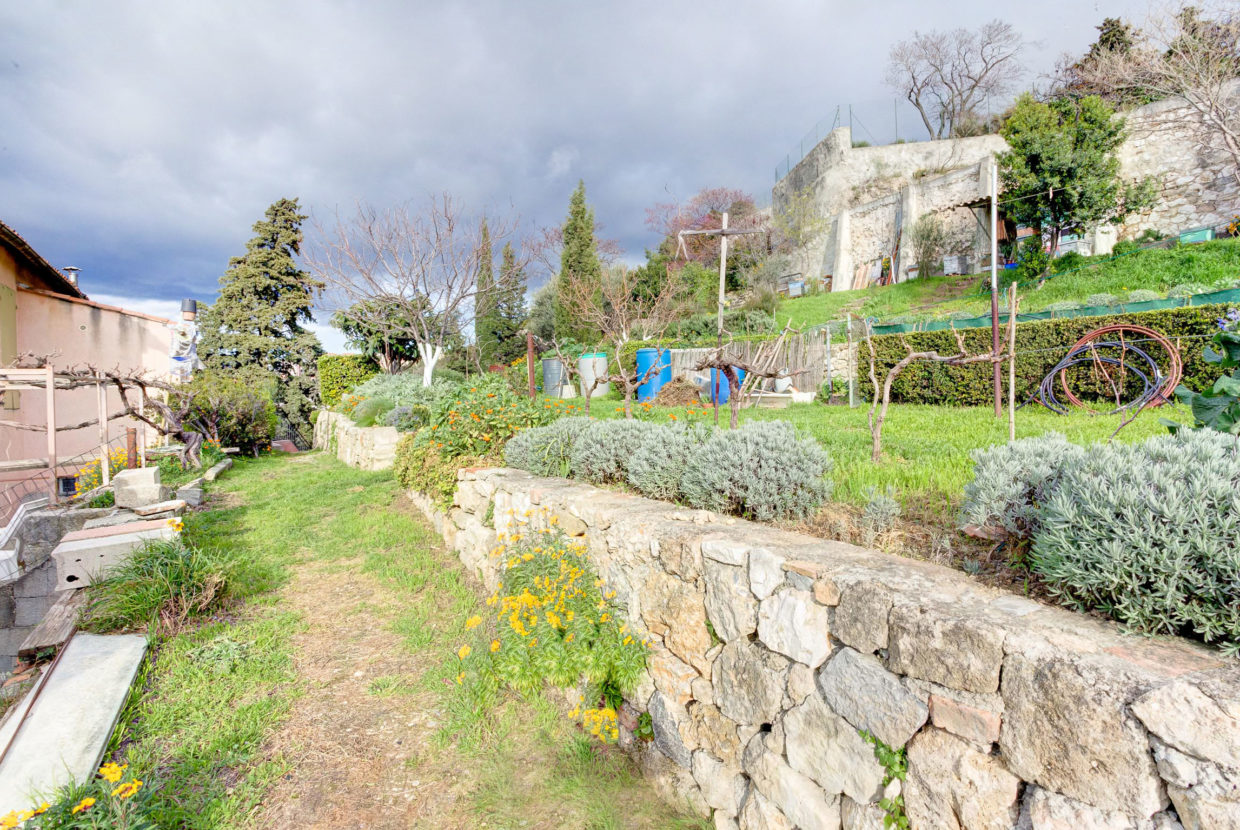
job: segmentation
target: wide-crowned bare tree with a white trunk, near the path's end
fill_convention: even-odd
[[[515,227],[495,217],[487,223],[492,244]],[[337,216],[330,228],[316,222],[315,231],[306,262],[346,300],[337,314],[417,342],[422,382],[430,386],[435,365],[474,313],[481,217],[444,194],[422,211],[358,205],[353,217]]]

